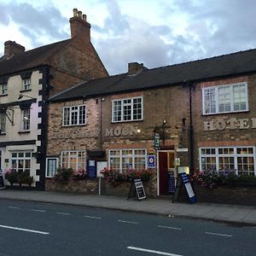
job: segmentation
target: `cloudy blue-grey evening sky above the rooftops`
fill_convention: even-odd
[[[129,62],[164,67],[256,48],[255,0],[0,0],[0,55],[70,38],[73,8],[87,15],[108,73]]]

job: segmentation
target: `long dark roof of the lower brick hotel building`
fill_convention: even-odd
[[[180,84],[184,81],[195,82],[253,72],[256,72],[256,49],[249,49],[199,61],[143,70],[136,75],[123,73],[104,79],[90,80],[51,97],[50,102],[146,90],[163,85]]]

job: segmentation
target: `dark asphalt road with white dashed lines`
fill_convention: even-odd
[[[255,238],[253,226],[0,200],[0,256],[253,256]]]

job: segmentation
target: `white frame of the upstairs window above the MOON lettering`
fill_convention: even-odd
[[[134,108],[134,100],[141,99],[141,104],[142,104],[142,113],[141,113],[141,118],[140,119],[134,119],[134,111],[136,110]],[[131,103],[125,103],[125,101],[131,100]],[[121,115],[120,115],[120,120],[114,120],[114,102],[121,102]],[[131,106],[131,119],[124,119],[124,107],[125,106]],[[118,116],[116,117],[118,119]],[[143,120],[143,96],[137,96],[137,97],[131,97],[131,98],[122,98],[122,99],[114,99],[112,100],[112,122],[113,123],[120,123],[120,122],[132,122],[132,121],[140,121]]]

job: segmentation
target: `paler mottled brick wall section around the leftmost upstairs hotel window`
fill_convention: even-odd
[[[47,155],[60,155],[63,150],[92,150],[100,148],[99,105],[90,99],[86,106],[86,125],[62,126],[63,107],[83,104],[83,101],[49,104]]]

